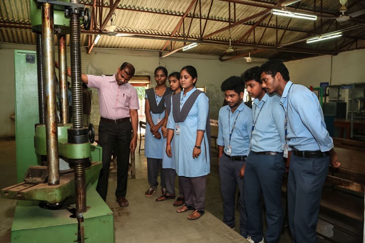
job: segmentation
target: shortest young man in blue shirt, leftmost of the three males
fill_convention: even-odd
[[[224,92],[225,105],[219,110],[218,158],[220,189],[223,196],[223,223],[235,228],[236,187],[239,190],[239,231],[247,238],[247,213],[243,178],[239,171],[243,167],[249,149],[252,115],[243,103],[244,83],[240,77],[232,76],[220,86]]]

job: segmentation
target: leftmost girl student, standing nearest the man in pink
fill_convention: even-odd
[[[161,139],[161,126],[164,123],[165,107],[164,96],[171,94],[171,89],[166,87],[167,70],[164,67],[155,69],[155,88],[146,89],[146,135],[145,135],[145,156],[147,157],[147,177],[150,188],[145,192],[147,197],[156,192],[158,181],[157,176],[160,165],[162,165],[162,147],[164,139]],[[161,193],[166,192],[164,174],[161,173]]]

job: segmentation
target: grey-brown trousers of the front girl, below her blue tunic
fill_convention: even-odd
[[[185,204],[204,211],[206,175],[198,177],[179,176],[179,183],[183,189]]]

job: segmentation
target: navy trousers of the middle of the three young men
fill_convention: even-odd
[[[263,237],[261,191],[265,201],[266,243],[279,243],[284,224],[281,185],[285,164],[283,153],[276,156],[251,152],[246,159],[244,187],[248,232],[251,239],[260,242]]]

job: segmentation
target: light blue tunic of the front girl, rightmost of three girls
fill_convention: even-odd
[[[184,101],[196,90],[186,93]],[[180,100],[183,98],[183,91]],[[185,102],[184,102],[185,103]],[[179,105],[180,106],[180,105]],[[180,108],[180,107],[179,107]],[[209,111],[208,97],[201,93],[191,107],[185,121],[175,122],[173,117],[173,107],[169,114],[167,128],[175,130],[175,126],[180,126],[180,135],[174,134],[174,144],[171,144],[172,157],[175,161],[176,174],[186,177],[197,177],[210,173],[209,142],[206,133],[201,141],[201,154],[198,158],[193,158],[193,149],[197,140],[197,131],[205,131]],[[209,122],[209,121],[208,121]],[[210,138],[209,138],[210,139]]]

